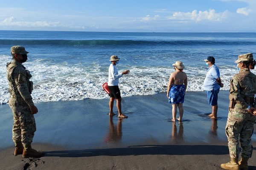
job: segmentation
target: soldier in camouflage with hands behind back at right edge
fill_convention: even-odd
[[[231,161],[221,164],[226,170],[247,170],[247,161],[252,155],[251,136],[256,120],[256,75],[250,72],[256,64],[253,54],[242,54],[235,61],[240,69],[230,80],[230,105],[227,117],[226,135]],[[241,144],[241,160],[239,158],[239,137]]]

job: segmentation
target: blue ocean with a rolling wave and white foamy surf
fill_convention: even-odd
[[[185,66],[187,91],[203,91],[208,56],[220,69],[221,90],[229,90],[237,56],[256,52],[256,33],[0,31],[1,104],[9,98],[6,63],[12,61],[12,45],[29,51],[23,65],[32,74],[34,101],[52,102],[108,98],[102,84],[111,55],[120,58],[120,72],[131,71],[119,79],[122,97],[166,92],[176,61]]]

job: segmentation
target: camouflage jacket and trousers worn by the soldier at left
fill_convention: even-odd
[[[24,49],[25,50],[25,49]],[[12,140],[16,144],[22,142],[24,149],[31,147],[36,131],[35,118],[30,107],[34,105],[31,97],[32,77],[26,68],[15,59],[7,63],[7,80],[9,84],[9,106],[12,109],[14,124]]]

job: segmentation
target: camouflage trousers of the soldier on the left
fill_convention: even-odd
[[[12,97],[11,97],[12,98]],[[24,101],[9,99],[9,105],[13,114],[12,140],[16,143],[23,143],[24,149],[31,147],[36,130],[35,118],[31,114],[29,105]]]

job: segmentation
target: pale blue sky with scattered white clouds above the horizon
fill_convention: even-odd
[[[255,32],[256,0],[1,0],[0,30]]]

